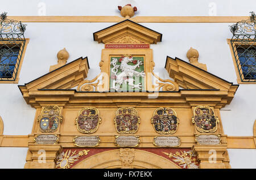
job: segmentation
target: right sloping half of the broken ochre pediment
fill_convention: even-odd
[[[237,84],[230,83],[179,58],[167,56],[165,68],[170,78],[184,89],[212,89],[234,93],[238,88]]]

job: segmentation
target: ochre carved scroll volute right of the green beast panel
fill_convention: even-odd
[[[161,89],[162,91],[179,91],[179,85],[174,81],[170,79],[159,78],[159,76],[157,76],[153,71],[154,66],[155,66],[154,61],[151,61],[151,73],[156,78],[155,84],[158,84],[158,85],[152,85],[152,88],[154,89],[154,91],[160,91]]]

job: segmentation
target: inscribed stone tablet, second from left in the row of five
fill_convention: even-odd
[[[95,147],[100,143],[98,136],[76,136],[74,143],[79,147]]]

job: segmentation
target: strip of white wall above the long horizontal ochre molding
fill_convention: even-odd
[[[254,0],[1,0],[1,10],[27,16],[42,13],[39,9],[45,6],[47,16],[119,16],[117,6],[127,3],[138,7],[139,16],[245,16],[255,10]]]

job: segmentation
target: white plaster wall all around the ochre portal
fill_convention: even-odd
[[[8,15],[38,15],[42,2],[46,5],[46,15],[117,15],[118,5],[128,1],[3,1],[0,11]],[[255,1],[129,1],[138,7],[140,16],[195,16],[209,15],[211,2],[216,5],[216,15],[246,16],[255,11]],[[39,4],[40,3],[40,4]],[[40,6],[39,6],[40,5]],[[209,5],[211,5],[209,7]],[[250,5],[250,6],[249,6]],[[99,72],[98,63],[101,58],[103,44],[93,41],[93,32],[106,28],[114,23],[26,23],[25,37],[30,38],[20,71],[20,85],[46,74],[49,66],[57,62],[56,54],[64,47],[69,52],[68,62],[79,57],[88,56],[89,76],[93,79]],[[178,57],[188,61],[187,50],[193,47],[199,51],[199,61],[206,63],[208,71],[222,79],[237,84],[233,60],[226,38],[231,38],[229,25],[233,23],[141,23],[142,25],[163,34],[162,42],[151,45],[154,49],[155,72],[162,78],[168,78],[164,65],[166,56]],[[240,84],[230,105],[221,110],[222,124],[225,134],[229,136],[253,136],[253,123],[256,119],[256,85]],[[31,133],[35,118],[35,109],[24,101],[17,84],[0,84],[0,115],[4,123],[5,135],[27,135]],[[10,151],[10,149],[12,149]],[[20,150],[22,149],[22,150]],[[14,156],[17,152],[23,158],[23,168],[26,148],[0,148],[0,154]],[[238,151],[239,150],[239,151]],[[242,152],[250,152],[256,156],[255,149],[229,149],[232,167],[243,168],[240,164]],[[15,155],[16,156],[16,155]],[[247,156],[247,155],[246,155]],[[7,158],[7,157],[4,157]],[[249,158],[249,155],[248,157]],[[6,161],[7,166],[13,166],[15,158]],[[0,161],[0,168],[3,165]],[[248,166],[253,162],[248,161]],[[255,167],[255,165],[254,165]]]

